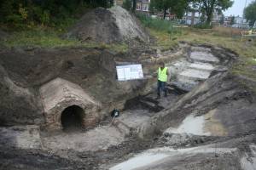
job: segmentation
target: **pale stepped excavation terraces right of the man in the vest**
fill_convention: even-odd
[[[186,59],[179,59],[168,64],[172,83],[178,88],[190,91],[200,82],[207,80],[212,71],[226,70],[228,60],[221,62],[216,49],[191,47]]]

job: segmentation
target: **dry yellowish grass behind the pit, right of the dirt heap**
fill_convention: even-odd
[[[153,21],[154,22],[154,21]],[[157,21],[159,22],[159,21]],[[170,24],[172,26],[172,24]],[[165,26],[166,27],[166,26]],[[183,28],[181,33],[170,34],[165,29],[148,26],[152,36],[156,37],[157,48],[162,50],[177,48],[178,42],[207,43],[222,48],[229,48],[239,55],[237,62],[232,66],[231,73],[236,76],[247,77],[256,82],[256,39],[241,42],[241,30],[224,27],[212,29]],[[252,88],[256,92],[256,87]]]

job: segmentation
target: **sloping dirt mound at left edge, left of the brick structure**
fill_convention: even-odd
[[[32,88],[22,88],[9,78],[0,65],[0,125],[39,124],[43,122],[41,105]]]

